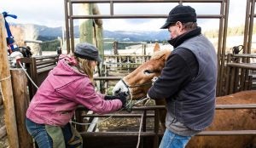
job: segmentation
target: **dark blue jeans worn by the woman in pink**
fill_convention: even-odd
[[[39,148],[53,147],[53,141],[47,133],[44,124],[38,124],[26,118],[26,129],[28,133],[32,135],[32,138],[36,140]],[[64,128],[62,128],[62,133],[64,136],[65,145],[67,145],[67,141],[72,137],[72,132],[69,123],[66,126],[64,126]]]

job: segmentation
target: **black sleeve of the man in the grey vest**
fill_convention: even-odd
[[[198,73],[195,55],[188,49],[181,48],[171,54],[160,77],[149,88],[148,96],[152,99],[170,99],[189,83]]]

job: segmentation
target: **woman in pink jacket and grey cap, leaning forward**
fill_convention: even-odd
[[[81,136],[69,123],[78,105],[98,114],[125,106],[124,94],[108,96],[95,91],[93,72],[101,62],[98,49],[79,43],[74,55],[60,56],[26,111],[26,128],[39,148],[82,147]]]

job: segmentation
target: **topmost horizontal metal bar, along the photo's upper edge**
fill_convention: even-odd
[[[179,3],[180,0],[70,0],[70,3]],[[183,3],[223,3],[224,0],[183,0]]]

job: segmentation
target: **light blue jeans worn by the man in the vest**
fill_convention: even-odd
[[[189,139],[191,139],[191,136],[181,136],[166,129],[159,148],[184,148],[188,144]]]

